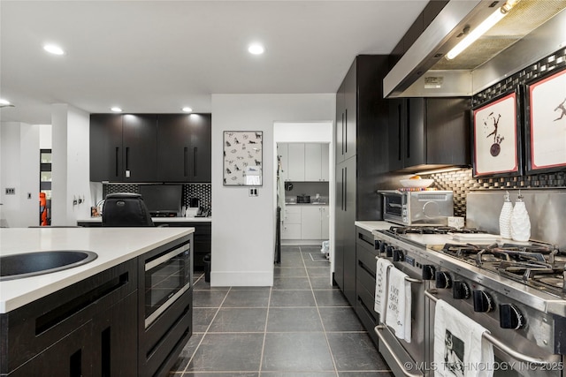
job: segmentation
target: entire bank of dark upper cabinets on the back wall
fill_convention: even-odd
[[[93,182],[210,182],[210,114],[92,114]]]

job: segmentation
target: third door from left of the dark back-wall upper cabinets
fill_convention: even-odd
[[[187,182],[190,126],[187,114],[157,115],[157,179]]]

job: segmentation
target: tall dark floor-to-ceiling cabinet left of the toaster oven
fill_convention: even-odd
[[[356,306],[356,220],[380,220],[376,177],[387,162],[388,102],[383,78],[388,56],[356,57],[336,94],[334,282]]]

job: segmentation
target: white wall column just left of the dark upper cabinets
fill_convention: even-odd
[[[51,225],[90,217],[89,116],[67,104],[51,107]],[[81,203],[73,205],[73,200]]]

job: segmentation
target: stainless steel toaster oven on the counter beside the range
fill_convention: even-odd
[[[447,225],[454,215],[451,191],[379,191],[383,195],[383,219],[401,225]]]

